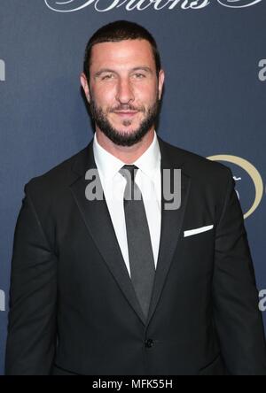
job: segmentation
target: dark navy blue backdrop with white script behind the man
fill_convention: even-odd
[[[1,0],[0,374],[24,184],[90,141],[84,48],[115,19],[143,24],[159,44],[162,139],[231,166],[266,318],[265,0]]]

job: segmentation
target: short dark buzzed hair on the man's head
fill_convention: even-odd
[[[90,58],[92,47],[97,43],[121,42],[125,40],[146,40],[150,42],[156,65],[156,73],[157,76],[159,76],[161,68],[160,53],[153,35],[151,35],[145,27],[137,25],[137,23],[129,22],[128,20],[117,20],[99,28],[98,31],[90,37],[90,41],[87,43],[83,71],[88,81],[90,81]]]

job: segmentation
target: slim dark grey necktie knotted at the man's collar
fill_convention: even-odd
[[[120,173],[127,180],[124,192],[124,212],[131,281],[145,317],[147,317],[153,290],[155,265],[145,205],[141,191],[135,182],[137,169],[137,166],[125,165]]]

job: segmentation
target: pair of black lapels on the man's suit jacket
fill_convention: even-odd
[[[163,169],[180,169],[180,158],[170,157],[170,150],[167,143],[164,143],[158,137],[160,143],[161,154],[161,185]],[[176,150],[175,150],[176,152]],[[167,279],[168,270],[173,259],[173,254],[176,249],[178,238],[181,233],[184,220],[184,211],[189,194],[190,178],[182,172],[182,204],[177,210],[165,210],[164,203],[168,202],[164,198],[163,188],[161,187],[161,230],[160,230],[160,249],[155,273],[153,295],[150,304],[150,311],[148,320],[141,310],[140,304],[137,301],[137,296],[129,277],[127,267],[121,254],[121,249],[113,229],[113,223],[108,211],[105,198],[103,200],[89,201],[85,196],[85,189],[90,184],[90,181],[85,179],[85,173],[88,169],[96,169],[97,166],[93,155],[93,139],[88,147],[82,151],[74,162],[73,171],[75,173],[75,180],[71,183],[74,200],[82,214],[86,227],[90,232],[90,236],[97,245],[98,250],[104,258],[114,279],[117,281],[129,304],[137,313],[144,325],[148,325],[153,317],[156,306],[160,300],[160,295]],[[98,184],[101,187],[98,179]],[[102,190],[102,188],[101,188]]]

